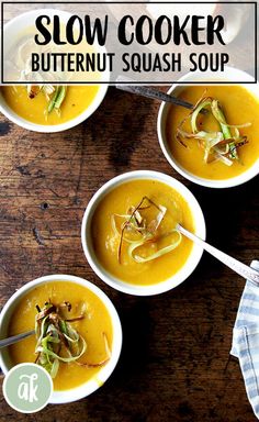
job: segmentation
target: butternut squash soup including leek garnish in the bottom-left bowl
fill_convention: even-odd
[[[36,335],[10,346],[13,364],[36,362],[52,376],[55,390],[78,387],[110,359],[112,322],[103,302],[88,288],[68,281],[38,285],[19,302],[9,335]]]

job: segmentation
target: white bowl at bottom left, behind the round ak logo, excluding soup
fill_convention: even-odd
[[[41,278],[36,278],[33,281],[27,282],[24,285],[21,289],[19,289],[4,304],[1,314],[0,314],[0,333],[1,337],[5,337],[8,334],[8,325],[9,321],[12,316],[12,313],[20,302],[20,300],[32,289],[34,289],[38,285],[52,282],[52,281],[70,281],[75,282],[77,285],[83,286],[90,291],[92,291],[94,295],[99,297],[99,299],[103,302],[105,306],[113,326],[113,343],[112,343],[112,355],[111,359],[108,362],[105,366],[100,368],[100,371],[98,373],[98,380],[92,378],[87,382],[83,382],[79,387],[69,389],[69,390],[57,390],[54,391],[49,402],[50,403],[68,403],[71,401],[76,401],[79,399],[82,399],[83,397],[87,397],[91,395],[93,391],[95,391],[98,388],[100,388],[100,381],[103,384],[105,380],[110,377],[113,369],[115,368],[120,354],[121,354],[121,347],[122,347],[122,327],[121,322],[117,315],[117,312],[112,304],[111,300],[106,297],[106,295],[100,290],[97,286],[92,285],[91,282],[85,280],[83,278],[75,277],[75,276],[68,276],[68,275],[52,275],[52,276],[44,276]],[[0,366],[3,371],[3,374],[7,374],[9,369],[13,366],[8,353],[8,348],[0,349]]]

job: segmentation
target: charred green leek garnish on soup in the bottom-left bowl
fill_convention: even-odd
[[[37,355],[35,363],[43,366],[55,378],[59,363],[69,364],[76,362],[80,366],[103,366],[110,359],[111,352],[108,338],[103,333],[106,358],[97,364],[77,362],[87,351],[86,340],[71,325],[72,322],[85,319],[86,306],[81,307],[80,313],[71,313],[71,303],[63,302],[59,306],[46,302],[43,309],[36,306],[38,313],[35,316],[35,333]]]

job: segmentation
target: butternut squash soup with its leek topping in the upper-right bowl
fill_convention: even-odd
[[[206,179],[240,175],[259,158],[259,99],[241,86],[190,86],[179,98],[193,111],[170,107],[166,136],[173,158]]]

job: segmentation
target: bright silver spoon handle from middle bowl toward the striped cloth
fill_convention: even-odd
[[[217,249],[216,247],[210,245],[209,243],[202,241],[195,234],[183,229],[180,224],[178,224],[178,230],[184,236],[187,236],[188,238],[190,238],[191,241],[193,241],[198,245],[202,246],[204,251],[209,252],[209,254],[213,255],[215,258],[221,260],[227,267],[232,268],[234,271],[239,274],[239,276],[244,277],[245,279],[251,281],[254,285],[259,287],[259,271],[257,271],[254,268],[248,267],[248,265],[240,263],[239,260],[233,258],[232,256],[225,254],[224,252],[222,252],[222,251]]]

